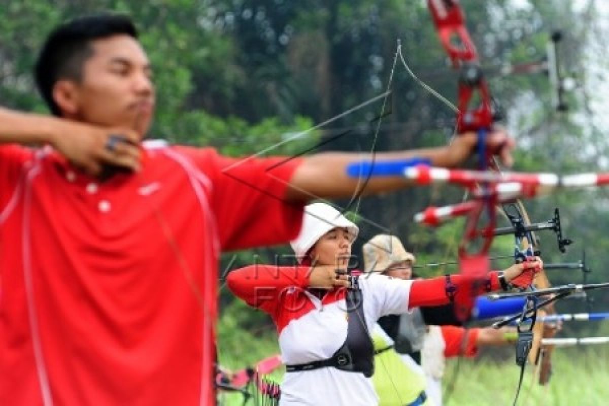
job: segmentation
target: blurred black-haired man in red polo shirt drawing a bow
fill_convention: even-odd
[[[0,405],[214,404],[220,253],[294,239],[309,199],[359,188],[346,167],[361,155],[143,142],[150,71],[129,19],[77,19],[35,69],[56,117],[0,108]],[[456,166],[476,141],[378,159]],[[487,145],[510,159],[503,133]],[[373,178],[365,192],[405,186]]]

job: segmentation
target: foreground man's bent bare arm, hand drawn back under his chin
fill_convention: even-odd
[[[108,150],[108,139],[119,135]],[[103,128],[59,117],[0,107],[0,145],[52,145],[68,161],[97,175],[104,164],[139,170],[139,135],[128,128]]]

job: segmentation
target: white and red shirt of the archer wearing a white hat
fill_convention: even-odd
[[[308,267],[251,265],[232,271],[227,277],[228,287],[237,296],[273,318],[281,360],[286,365],[329,359],[347,339],[347,291],[333,290],[318,299],[305,289],[308,270]],[[373,330],[382,315],[408,310],[410,285],[412,281],[376,274],[359,278],[368,331]],[[377,403],[370,378],[336,368],[286,373],[281,385],[281,406]]]

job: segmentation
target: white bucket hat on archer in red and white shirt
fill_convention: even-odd
[[[356,239],[359,234],[359,228],[353,222],[347,220],[337,209],[326,203],[313,203],[306,206],[304,216],[300,234],[290,242],[298,262],[302,262],[303,257],[323,234],[334,228],[348,228],[349,233],[353,234],[353,239]]]

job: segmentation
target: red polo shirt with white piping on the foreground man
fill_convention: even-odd
[[[297,236],[300,161],[144,152],[99,183],[0,146],[0,405],[214,404],[220,252]]]

